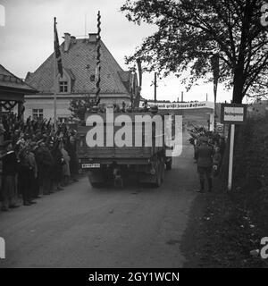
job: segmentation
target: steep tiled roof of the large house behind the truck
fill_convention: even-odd
[[[71,43],[68,52],[63,52],[61,45],[63,68],[73,80],[73,93],[95,93],[96,81],[91,81],[90,76],[96,74],[96,42],[88,39],[76,39]],[[101,41],[101,94],[127,94],[129,91],[125,80],[126,73],[115,61],[105,44]],[[123,75],[123,78],[121,77]],[[40,92],[54,92],[54,55],[50,55],[38,70],[27,74],[26,82]]]

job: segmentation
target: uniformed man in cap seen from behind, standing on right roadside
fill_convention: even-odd
[[[212,166],[214,149],[208,145],[208,139],[205,136],[200,137],[200,145],[197,147],[197,172],[200,180],[199,192],[204,192],[205,178],[208,182],[208,191],[212,191]]]

